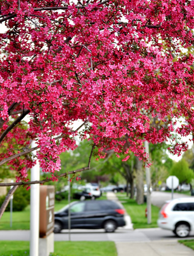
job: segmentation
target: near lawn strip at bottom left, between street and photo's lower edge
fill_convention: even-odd
[[[29,256],[28,241],[0,241],[0,256]],[[117,256],[114,242],[55,242],[50,256]]]

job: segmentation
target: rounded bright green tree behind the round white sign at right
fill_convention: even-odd
[[[180,161],[174,163],[172,169],[170,170],[170,174],[177,176],[180,184],[190,183],[194,178],[194,173],[192,169],[189,169],[189,164],[185,161],[185,159],[181,159]]]

